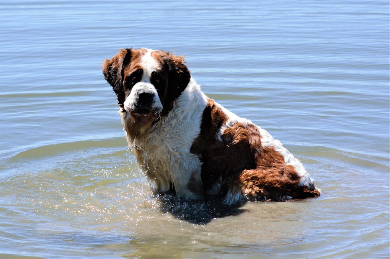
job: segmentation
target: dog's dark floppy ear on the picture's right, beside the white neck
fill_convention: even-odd
[[[175,100],[186,89],[191,79],[188,67],[184,65],[184,56],[165,56],[165,64],[168,70],[168,84],[170,88],[170,98]]]

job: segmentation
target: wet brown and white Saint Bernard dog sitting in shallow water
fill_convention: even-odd
[[[151,49],[121,49],[103,62],[129,148],[154,194],[220,194],[228,205],[320,195],[282,143],[207,98],[184,62]]]

